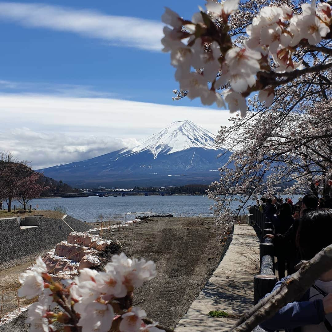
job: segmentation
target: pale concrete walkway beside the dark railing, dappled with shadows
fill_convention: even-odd
[[[259,240],[254,229],[235,225],[225,257],[174,331],[228,331],[253,305],[253,277],[258,265]],[[210,317],[207,314],[212,310],[224,310],[233,318]]]

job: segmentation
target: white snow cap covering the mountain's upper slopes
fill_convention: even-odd
[[[150,151],[154,158],[157,158],[161,152],[170,154],[191,147],[217,150],[214,140],[215,136],[212,133],[193,122],[188,120],[176,121],[157,133],[142,139],[139,141],[139,145],[126,151],[130,151],[130,154]]]

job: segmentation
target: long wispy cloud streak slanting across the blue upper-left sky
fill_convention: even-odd
[[[150,51],[161,49],[163,24],[153,20],[18,2],[0,2],[0,18],[26,27],[67,31],[99,38],[116,46]]]

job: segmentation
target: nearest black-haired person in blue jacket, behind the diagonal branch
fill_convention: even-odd
[[[297,230],[296,245],[301,259],[310,260],[332,244],[332,209],[306,211]],[[279,281],[272,292],[287,278]],[[269,295],[269,294],[267,294]],[[267,296],[266,295],[266,296]],[[332,331],[332,267],[320,276],[299,301],[288,303],[260,324],[266,331]]]

